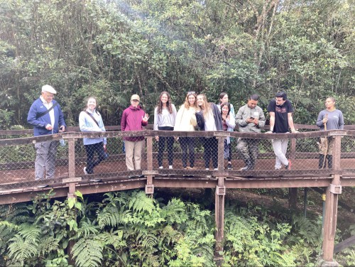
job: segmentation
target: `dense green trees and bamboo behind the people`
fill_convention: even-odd
[[[133,93],[153,114],[163,90],[266,108],[281,89],[297,123],[332,95],[354,124],[353,14],[352,0],[0,0],[0,126],[27,127],[44,84],[69,125],[89,95],[117,125]]]

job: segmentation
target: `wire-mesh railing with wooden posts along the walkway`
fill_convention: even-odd
[[[128,170],[126,166],[126,153],[124,138],[144,136],[145,146],[141,158],[141,170]],[[159,168],[159,144],[156,136],[170,139],[173,142],[173,168],[170,169],[169,151],[163,151],[163,168]],[[320,177],[346,173],[353,175],[355,169],[355,131],[308,131],[302,133],[241,133],[226,131],[107,131],[105,133],[67,132],[50,136],[8,138],[0,140],[0,192],[9,190],[22,190],[26,187],[42,185],[60,185],[67,178],[81,178],[83,182],[98,182],[99,180],[117,180],[140,178],[139,176],[166,176],[215,179],[217,177],[229,178],[265,178],[265,177]],[[92,174],[85,174],[83,168],[87,167],[87,151],[83,145],[83,138],[107,138],[108,158],[96,167]],[[325,168],[320,169],[319,143],[321,137],[327,137],[329,145],[335,142],[332,157],[322,162]],[[275,170],[275,153],[273,139],[288,139],[287,157],[292,161],[291,170]],[[172,140],[171,140],[172,139]],[[230,148],[228,150],[228,143]],[[58,146],[55,153],[55,174],[44,180],[35,180],[34,146],[45,141],[60,143],[65,140],[65,146]],[[248,143],[249,149],[240,147],[240,143]],[[193,145],[192,145],[193,144]],[[183,153],[185,147],[193,148],[192,153]],[[244,155],[253,153],[258,149],[253,168],[243,170],[248,165]],[[188,148],[187,148],[188,149]],[[209,151],[210,153],[206,153]],[[228,165],[228,154],[231,153],[231,167]],[[161,155],[161,154],[160,154]],[[206,160],[209,158],[209,164]],[[97,155],[94,160],[97,160]],[[217,163],[216,163],[217,160]],[[133,164],[135,160],[133,160]],[[327,169],[328,167],[330,169]],[[193,168],[189,168],[193,167]],[[207,169],[208,168],[208,169]],[[141,178],[144,179],[144,178]]]

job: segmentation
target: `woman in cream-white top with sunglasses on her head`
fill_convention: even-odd
[[[176,115],[174,131],[195,131],[196,121],[196,92],[188,92],[185,103],[180,107]],[[180,146],[182,149],[182,167],[194,168],[195,165],[195,137],[180,137]],[[190,167],[187,167],[187,153],[189,155]]]

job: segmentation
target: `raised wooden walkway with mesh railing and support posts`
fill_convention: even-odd
[[[226,131],[174,131],[175,137],[195,137],[195,168],[184,169],[181,165],[180,146],[175,145],[174,168],[158,168],[155,136],[172,136],[171,131],[138,132],[116,131],[107,127],[106,133],[83,133],[69,127],[66,133],[50,136],[21,137],[31,135],[31,130],[0,131],[0,205],[27,202],[40,192],[53,189],[55,197],[75,197],[75,190],[83,195],[144,188],[153,194],[155,187],[213,188],[215,190],[216,252],[223,251],[224,198],[232,188],[290,188],[290,203],[295,203],[297,187],[326,187],[326,205],[323,231],[323,258],[332,261],[334,236],[337,229],[338,196],[342,187],[355,185],[355,126],[346,126],[342,131],[315,131],[316,126],[295,125],[300,133],[264,134]],[[146,148],[142,158],[142,170],[126,170],[125,154],[122,151],[124,136],[145,136]],[[224,139],[233,138],[235,147],[238,138],[258,140],[259,154],[256,168],[238,170],[244,166],[236,153],[233,154],[234,170],[225,168]],[[321,136],[334,138],[331,169],[318,168],[317,141]],[[86,155],[82,138],[107,137],[110,156],[95,168],[92,175],[84,175]],[[204,137],[218,139],[218,170],[206,170],[199,140]],[[51,180],[35,180],[33,144],[40,141],[67,141],[67,146],[58,148],[56,175]],[[289,138],[288,158],[292,170],[274,170],[275,155],[271,139]],[[165,163],[165,161],[164,161]],[[168,165],[168,163],[166,163]],[[134,178],[131,178],[134,176]],[[48,187],[38,187],[39,185]]]

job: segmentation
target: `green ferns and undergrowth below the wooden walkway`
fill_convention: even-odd
[[[132,190],[99,201],[51,200],[0,206],[1,266],[216,266],[214,212],[192,201]],[[203,199],[203,197],[200,196]],[[354,231],[354,229],[353,229]],[[223,266],[317,266],[322,218],[226,204]],[[353,232],[354,234],[354,232]],[[354,250],[340,262],[352,265]]]

